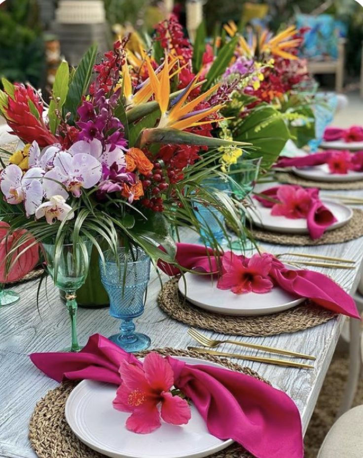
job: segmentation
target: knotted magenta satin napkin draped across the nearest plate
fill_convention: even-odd
[[[30,358],[58,382],[91,379],[120,385],[123,359],[141,365],[133,354],[99,334],[91,336],[79,353],[33,353]],[[238,372],[167,359],[175,386],[191,399],[211,434],[233,439],[257,458],[303,457],[300,415],[283,391]]]

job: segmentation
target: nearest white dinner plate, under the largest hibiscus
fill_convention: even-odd
[[[211,361],[179,357],[188,364],[223,367]],[[111,458],[202,458],[233,443],[208,432],[196,408],[181,426],[164,423],[150,434],[136,434],[125,426],[130,413],[113,408],[117,387],[83,380],[66,402],[66,420],[74,434],[88,447]]]

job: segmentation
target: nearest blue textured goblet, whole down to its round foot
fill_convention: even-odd
[[[126,352],[150,346],[150,338],[135,332],[133,319],[144,313],[144,296],[150,278],[150,258],[140,248],[119,248],[100,257],[101,281],[109,295],[109,314],[121,319],[120,332],[109,339]]]

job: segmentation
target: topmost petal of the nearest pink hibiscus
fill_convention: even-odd
[[[160,354],[151,352],[144,359],[145,379],[158,392],[168,391],[174,385],[174,372],[169,362]]]

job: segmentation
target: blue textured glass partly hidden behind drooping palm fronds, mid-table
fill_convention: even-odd
[[[229,191],[229,184],[220,177],[208,178],[202,182],[202,187],[213,192],[213,189],[218,191]],[[208,247],[214,246],[215,242],[222,245],[226,242],[224,237],[224,217],[218,209],[211,205],[204,205],[193,200],[193,210],[196,218],[201,224],[200,241]]]

